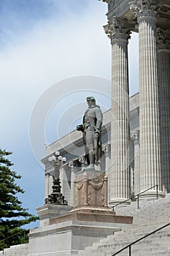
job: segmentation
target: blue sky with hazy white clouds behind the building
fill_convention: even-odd
[[[26,190],[21,200],[33,214],[36,207],[44,204],[45,190],[40,164],[45,146],[39,148],[39,156],[34,156],[30,145],[29,126],[34,106],[54,85],[58,95],[62,94],[63,80],[71,79],[72,88],[72,78],[82,75],[111,79],[111,45],[102,28],[107,23],[106,12],[107,5],[98,0],[0,1],[0,146],[13,152],[10,158],[15,164],[13,168],[23,176],[20,185]],[[129,53],[130,93],[135,94],[138,91],[136,34],[129,43]],[[81,90],[85,88],[80,86]],[[77,99],[84,102],[85,93],[73,97],[75,102]],[[65,99],[72,102],[68,95]],[[98,103],[104,105],[103,100],[98,99]],[[44,145],[58,138],[56,126],[58,120],[63,121],[63,105],[62,101],[49,105],[43,124],[47,140]],[[109,102],[103,109],[107,108]],[[79,117],[73,116],[69,130]],[[40,129],[39,124],[36,129]],[[68,132],[68,127],[62,132],[61,136]]]

